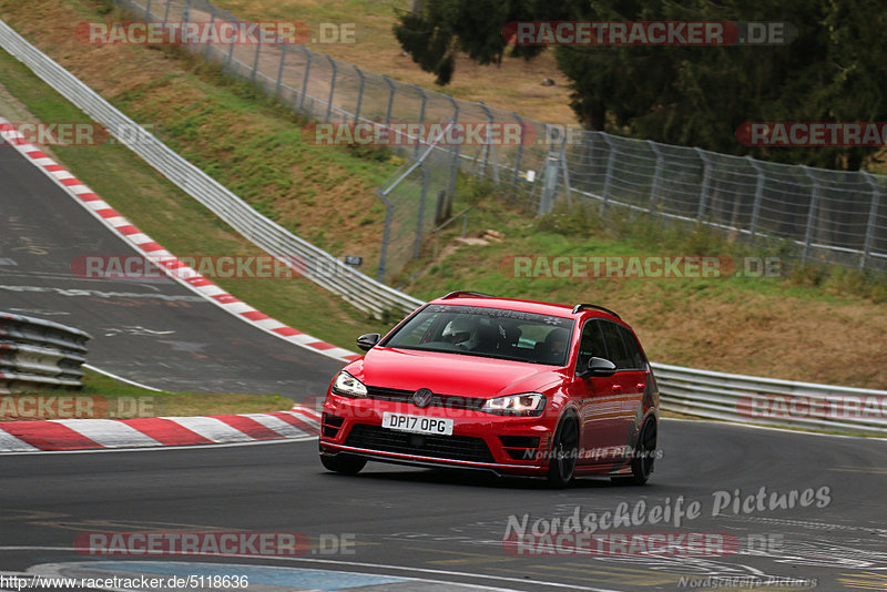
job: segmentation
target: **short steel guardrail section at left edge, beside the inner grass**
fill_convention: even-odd
[[[0,392],[81,388],[90,338],[51,320],[0,313]]]

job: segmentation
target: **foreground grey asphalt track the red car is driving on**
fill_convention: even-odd
[[[644,488],[587,479],[550,490],[538,480],[390,465],[345,477],[322,469],[315,442],[0,457],[2,569],[93,564],[94,558],[71,551],[86,532],[217,530],[304,533],[313,551],[298,558],[114,558],[103,565],[125,572],[134,569],[129,561],[151,561],[154,572],[171,573],[170,562],[186,562],[193,565],[180,572],[196,574],[220,563],[228,574],[268,565],[514,590],[681,590],[682,576],[752,575],[815,579],[818,590],[829,591],[887,588],[887,442],[679,420],[665,420],[661,431],[663,458]],[[718,496],[733,498],[738,489],[745,498],[762,487],[767,496],[826,487],[827,503],[736,513],[731,502],[712,516]],[[528,513],[532,523],[567,518],[577,508],[582,518],[615,511],[621,502],[633,508],[639,500],[674,508],[680,497],[686,506],[699,502],[701,511],[679,528],[648,523],[599,534],[722,533],[735,537],[736,549],[721,557],[516,557],[502,544],[512,514]],[[345,552],[327,554],[322,538],[350,542]],[[299,578],[312,572],[285,573],[288,589],[298,590]],[[326,584],[334,581],[327,574]]]

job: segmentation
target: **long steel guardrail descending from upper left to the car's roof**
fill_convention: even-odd
[[[338,294],[360,310],[381,316],[408,312],[421,304],[411,296],[345,265],[328,253],[263,216],[221,183],[182,159],[51,58],[0,21],[0,47],[21,60],[47,84],[104,125],[122,144],[163,176],[206,206],[248,241],[297,273]]]

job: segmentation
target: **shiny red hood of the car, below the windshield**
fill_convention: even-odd
[[[489,398],[543,390],[563,369],[465,354],[375,347],[346,368],[367,386]]]

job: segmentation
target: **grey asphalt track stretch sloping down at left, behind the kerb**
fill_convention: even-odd
[[[93,336],[90,364],[164,390],[303,399],[323,395],[344,365],[288,347],[165,277],[78,277],[72,266],[89,255],[139,256],[0,145],[0,310],[81,328]]]

